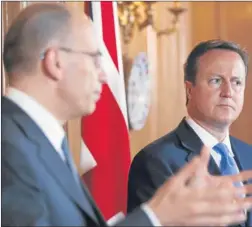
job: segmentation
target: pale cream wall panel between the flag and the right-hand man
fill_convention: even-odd
[[[155,4],[154,21],[159,29],[171,26],[173,18],[167,8],[172,4],[171,2]],[[175,128],[186,113],[182,69],[190,47],[190,4],[182,3],[182,6],[187,12],[180,18],[177,33],[155,38],[153,33],[147,33],[146,30],[136,31],[130,44],[123,46],[123,53],[127,53],[131,61],[139,52],[148,52],[148,45],[152,42],[156,43],[157,48],[157,58],[149,56],[150,64],[156,62],[156,70],[150,75],[153,89],[149,116],[143,129],[130,131],[132,158],[145,145]],[[129,69],[125,70],[126,76],[128,71]]]

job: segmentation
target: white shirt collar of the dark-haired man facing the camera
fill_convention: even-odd
[[[211,133],[209,133],[206,129],[204,129],[202,126],[196,123],[190,116],[186,117],[186,122],[198,135],[203,144],[205,144],[207,147],[213,148],[215,145],[219,143],[219,141]],[[222,143],[224,143],[228,147],[230,154],[234,156],[230,143],[229,133],[226,135]]]

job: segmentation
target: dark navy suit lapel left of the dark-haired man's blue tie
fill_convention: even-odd
[[[200,154],[203,143],[194,130],[187,124],[185,118],[180,122],[176,133],[179,137],[182,147],[188,153],[186,161],[192,160],[196,155]],[[210,156],[208,171],[212,175],[220,175],[220,170],[212,156]]]

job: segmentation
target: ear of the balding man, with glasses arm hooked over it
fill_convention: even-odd
[[[49,48],[46,50],[42,64],[48,77],[53,80],[60,80],[62,78],[62,67],[59,59],[59,52],[56,49]]]

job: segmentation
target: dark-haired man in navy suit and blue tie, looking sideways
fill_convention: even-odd
[[[229,135],[243,107],[247,68],[248,56],[235,43],[210,40],[192,50],[184,71],[188,116],[134,158],[128,211],[151,198],[203,145],[210,148],[208,170],[214,175],[252,169],[252,147]],[[248,212],[247,226],[251,220]]]

